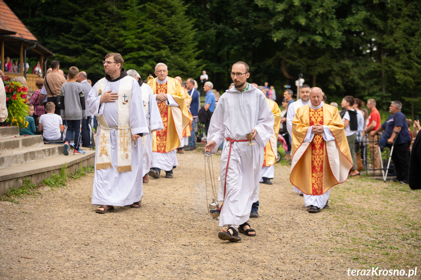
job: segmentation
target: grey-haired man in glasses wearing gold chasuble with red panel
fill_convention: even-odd
[[[168,77],[164,63],[155,66],[156,78],[148,81],[158,102],[163,129],[153,132],[152,164],[149,176],[160,178],[161,170],[165,178],[173,178],[173,167],[177,166],[177,148],[183,138],[183,130],[189,124],[189,111],[181,92],[179,81]]]

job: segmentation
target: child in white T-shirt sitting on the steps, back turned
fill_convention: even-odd
[[[45,112],[40,116],[38,131],[43,131],[42,137],[45,141],[60,141],[61,132],[63,132],[63,121],[59,115],[56,115],[56,105],[53,102],[45,104]]]

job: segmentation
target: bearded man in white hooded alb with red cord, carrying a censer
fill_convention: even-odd
[[[221,205],[218,233],[221,240],[240,241],[240,231],[255,236],[247,223],[251,205],[259,200],[259,179],[263,149],[273,133],[274,118],[265,95],[247,83],[249,67],[239,61],[232,66],[235,87],[227,90],[218,101],[207,134],[206,152],[216,152],[224,141],[221,154],[221,184],[218,200]],[[250,142],[246,134],[252,133]]]

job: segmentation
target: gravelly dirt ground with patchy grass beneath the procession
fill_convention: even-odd
[[[178,160],[174,179],[144,185],[140,209],[95,213],[93,173],[0,202],[0,279],[404,279],[352,277],[348,268],[420,264],[421,194],[407,185],[349,179],[332,189],[329,209],[310,214],[290,166],[277,164],[251,219],[257,236],[229,243],[207,213],[201,150]],[[219,162],[214,155],[216,178]],[[420,275],[418,267],[410,279]]]

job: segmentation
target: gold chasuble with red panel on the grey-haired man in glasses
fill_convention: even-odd
[[[166,102],[158,103],[163,129],[153,132],[152,151],[166,153],[180,147],[183,130],[189,124],[189,111],[181,91],[180,82],[168,77],[164,84],[159,84],[157,78],[148,81],[154,94],[169,93],[177,102],[177,106],[168,106]]]

